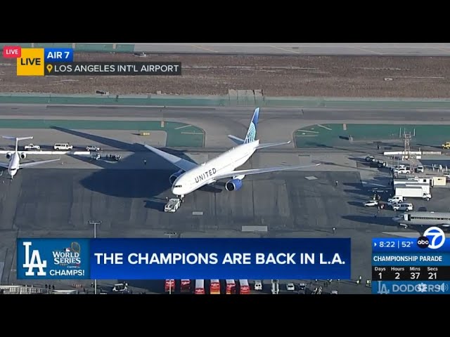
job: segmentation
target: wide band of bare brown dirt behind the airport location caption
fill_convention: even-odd
[[[179,61],[181,77],[17,77],[0,58],[0,92],[449,98],[450,58],[76,53],[77,61]]]

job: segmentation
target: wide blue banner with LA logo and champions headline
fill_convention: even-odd
[[[350,239],[18,239],[18,279],[350,279],[350,259]]]

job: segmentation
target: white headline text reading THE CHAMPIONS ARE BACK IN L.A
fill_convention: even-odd
[[[94,253],[97,265],[345,265],[339,253]]]

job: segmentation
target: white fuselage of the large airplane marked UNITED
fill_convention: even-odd
[[[182,173],[181,176],[176,178],[172,185],[172,193],[176,195],[185,196],[200,187],[215,183],[214,179],[220,173],[230,172],[245,164],[252,154],[257,150],[259,140],[254,142],[238,145],[228,150],[218,157],[205,162],[195,169]],[[233,178],[243,179],[244,176],[238,176]]]

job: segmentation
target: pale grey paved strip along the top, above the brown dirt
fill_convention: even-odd
[[[134,44],[148,53],[449,56],[450,44]]]

